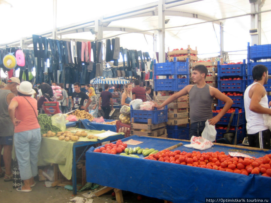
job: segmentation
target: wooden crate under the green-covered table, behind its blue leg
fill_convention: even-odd
[[[55,180],[51,184],[52,187],[60,186],[64,187],[66,185],[73,185],[72,180],[67,180],[61,172],[59,171],[58,164],[53,164]],[[80,190],[86,184],[86,161],[78,161],[76,165],[76,183],[81,184],[77,186],[77,189]]]

